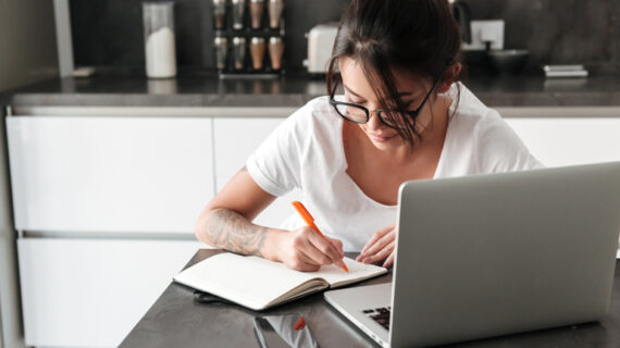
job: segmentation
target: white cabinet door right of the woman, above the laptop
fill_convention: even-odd
[[[505,120],[547,166],[620,161],[620,115]]]

